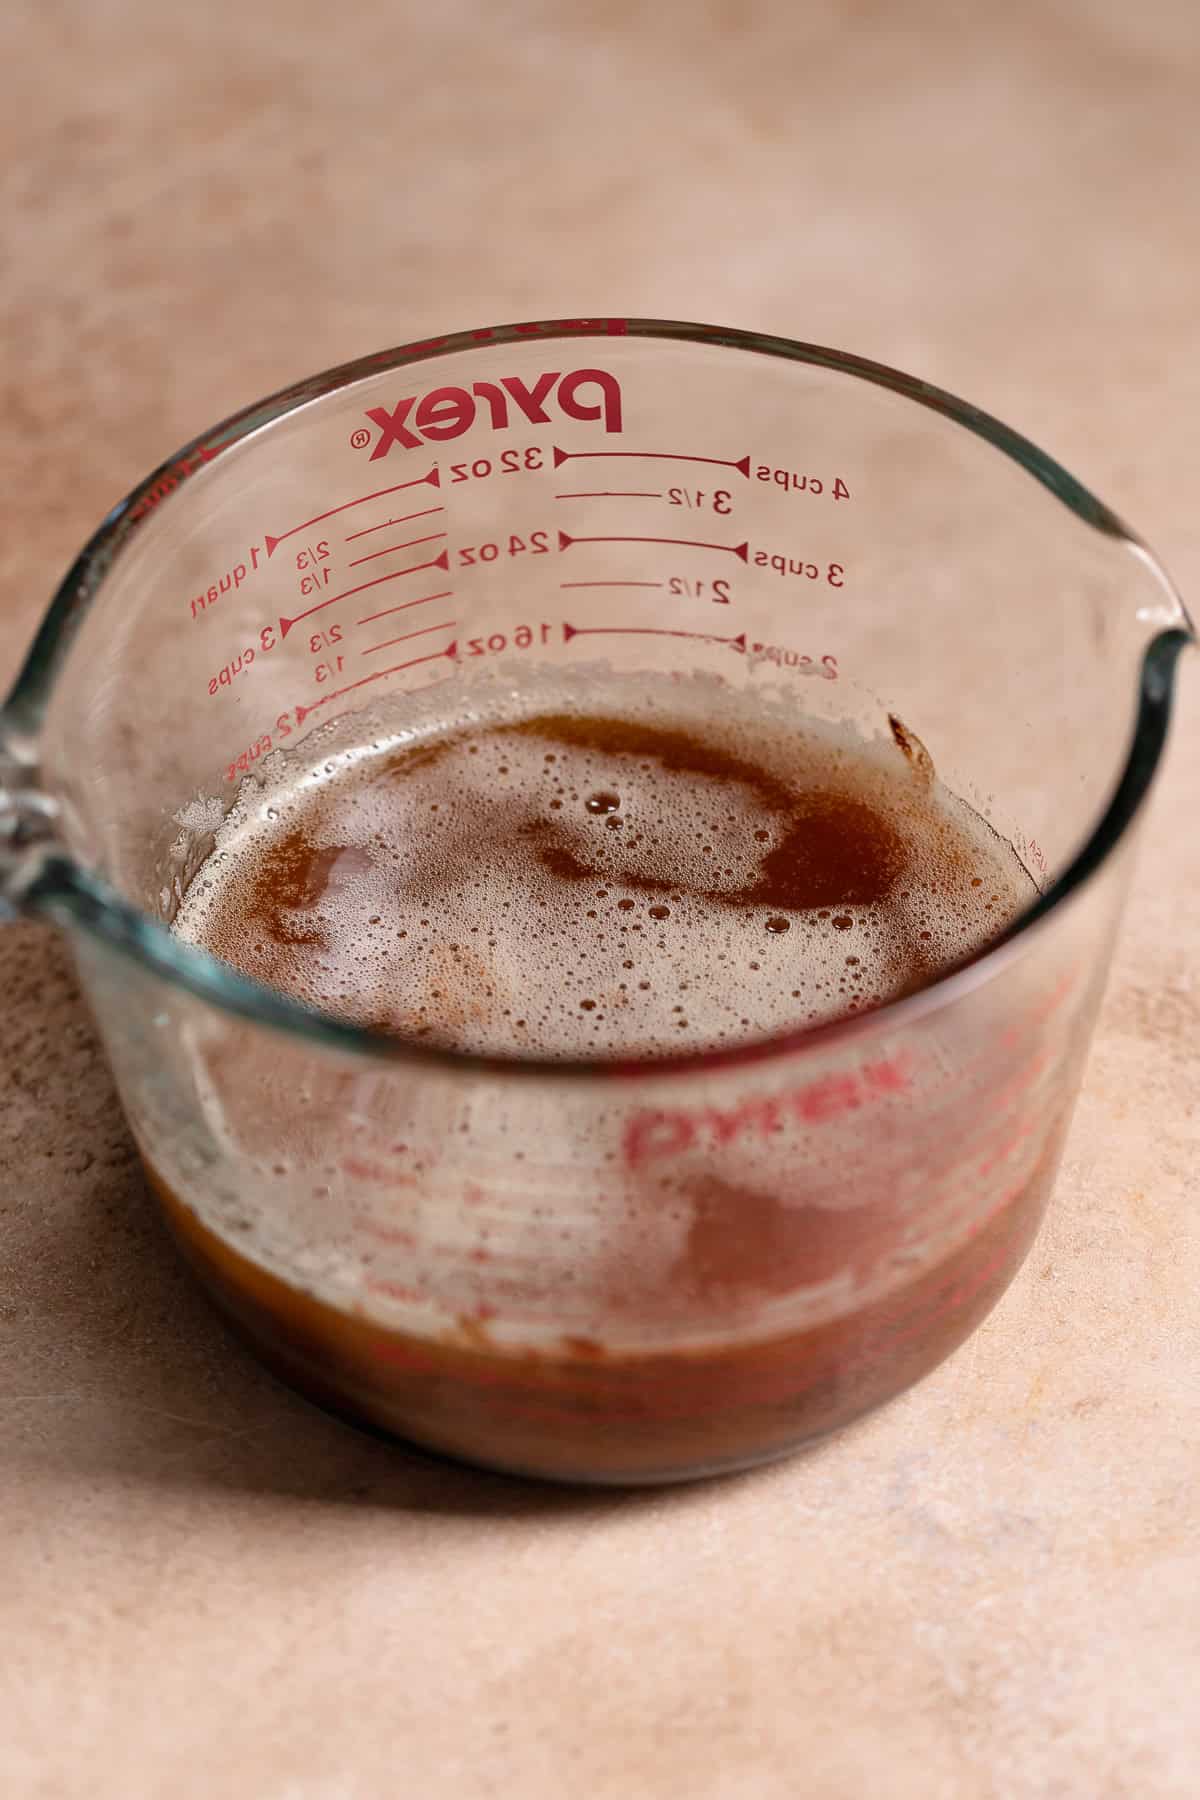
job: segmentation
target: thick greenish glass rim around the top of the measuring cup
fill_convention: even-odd
[[[901,1028],[959,999],[991,979],[993,974],[999,974],[1020,949],[1025,932],[1056,913],[1103,866],[1139,814],[1166,745],[1175,664],[1178,653],[1187,644],[1196,643],[1196,632],[1169,576],[1144,542],[1031,439],[1004,425],[993,414],[918,376],[909,376],[887,364],[871,362],[819,344],[667,319],[551,319],[423,338],[338,364],[333,369],[295,382],[193,437],[191,443],[160,463],[158,468],[110,509],[76,556],[41,619],[22,670],[0,707],[0,731],[4,727],[16,729],[36,740],[58,670],[65,662],[79,625],[101,592],[126,542],[148,517],[155,515],[160,506],[169,506],[173,497],[187,486],[187,481],[205,470],[221,452],[327,394],[340,392],[356,382],[390,369],[432,362],[439,356],[461,355],[464,351],[488,351],[497,344],[604,337],[657,338],[660,342],[703,344],[777,356],[784,362],[824,367],[873,387],[889,389],[982,437],[1038,481],[1083,524],[1123,542],[1159,580],[1166,603],[1162,621],[1169,617],[1171,623],[1148,637],[1144,644],[1139,670],[1137,716],[1110,799],[1070,864],[1000,938],[916,994],[885,1001],[869,1012],[847,1019],[822,1026],[775,1031],[732,1048],[691,1049],[667,1057],[630,1057],[601,1062],[479,1055],[473,1051],[426,1048],[369,1031],[363,1026],[338,1019],[335,1013],[293,1001],[275,988],[255,981],[252,976],[236,970],[232,965],[221,963],[207,950],[185,943],[160,920],[151,918],[124,900],[101,877],[81,868],[63,851],[58,851],[54,844],[47,848],[32,878],[22,887],[18,904],[27,911],[56,920],[67,929],[83,931],[104,949],[133,958],[149,974],[255,1024],[299,1035],[327,1049],[365,1055],[378,1062],[408,1062],[459,1075],[596,1080],[603,1076],[637,1075],[648,1078],[711,1073],[752,1062],[766,1062],[775,1057],[824,1051],[831,1042],[871,1035],[882,1026]]]

